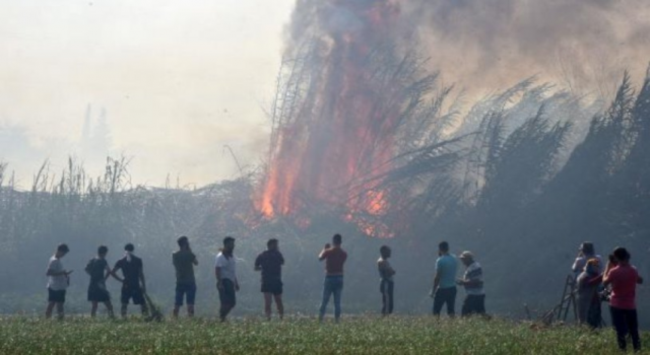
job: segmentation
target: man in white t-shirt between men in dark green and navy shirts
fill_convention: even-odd
[[[228,313],[237,304],[235,293],[239,291],[239,282],[237,281],[237,273],[235,270],[234,250],[235,238],[224,238],[224,247],[216,256],[216,262],[214,263],[216,288],[219,290],[219,301],[221,303],[219,318],[222,322],[226,321]]]

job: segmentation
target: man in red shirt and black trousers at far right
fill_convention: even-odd
[[[630,265],[630,253],[625,248],[614,249],[614,254],[610,256],[604,272],[603,284],[605,287],[612,286],[610,311],[618,347],[621,350],[627,347],[625,338],[628,333],[632,337],[634,350],[641,350],[636,315],[636,284],[642,282],[643,279],[637,273],[636,267]]]

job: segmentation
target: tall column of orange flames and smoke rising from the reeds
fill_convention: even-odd
[[[267,218],[295,216],[305,201],[340,206],[347,210],[344,219],[378,217],[389,208],[389,191],[372,177],[391,169],[402,103],[390,86],[378,87],[369,62],[399,8],[389,0],[315,0],[313,6],[320,35],[310,53],[315,60],[305,64],[309,80],[295,84],[302,91],[292,93],[291,113],[283,111],[274,127],[255,205]],[[343,24],[328,25],[335,21]],[[300,221],[308,224],[304,216]]]

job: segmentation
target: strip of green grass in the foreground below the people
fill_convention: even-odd
[[[648,334],[643,342],[650,344]],[[483,319],[427,317],[313,319],[220,324],[213,320],[143,323],[98,318],[64,322],[0,319],[0,354],[614,354],[611,330]],[[650,352],[648,352],[650,354]]]

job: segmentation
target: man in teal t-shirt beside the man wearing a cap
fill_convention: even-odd
[[[434,288],[430,293],[434,298],[434,315],[439,316],[443,306],[447,304],[447,315],[454,317],[458,262],[449,254],[449,243],[446,241],[438,245],[438,255],[439,258],[435,261]]]

